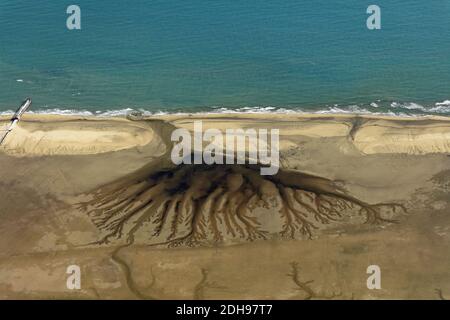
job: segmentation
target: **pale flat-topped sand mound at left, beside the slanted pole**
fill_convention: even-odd
[[[124,119],[32,116],[14,128],[0,150],[14,156],[87,155],[144,146],[152,138],[149,126]]]

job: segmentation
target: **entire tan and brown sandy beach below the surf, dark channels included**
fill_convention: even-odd
[[[279,129],[279,173],[173,165],[199,120]],[[0,222],[2,299],[450,299],[450,118],[26,114]]]

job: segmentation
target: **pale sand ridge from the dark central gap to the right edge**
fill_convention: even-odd
[[[208,128],[279,128],[281,149],[291,147],[289,137],[349,137],[363,154],[450,153],[450,118],[363,115],[230,114],[165,116],[175,126],[192,130],[202,120]],[[284,141],[283,141],[284,138]]]

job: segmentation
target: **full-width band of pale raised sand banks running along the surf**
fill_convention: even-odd
[[[292,147],[290,137],[348,137],[363,154],[450,153],[450,118],[446,117],[210,114],[147,118],[150,122],[152,119],[189,130],[193,130],[196,120],[203,122],[204,130],[277,128],[281,148]],[[0,126],[6,123],[0,119]],[[0,152],[15,156],[98,154],[144,146],[153,137],[148,121],[27,115],[10,133]]]

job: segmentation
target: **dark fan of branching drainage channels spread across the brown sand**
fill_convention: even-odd
[[[394,222],[406,211],[367,204],[324,178],[284,170],[261,176],[245,165],[181,165],[101,188],[80,208],[102,232],[98,244],[134,243],[145,231],[147,244],[167,246],[312,238],[342,223]]]

